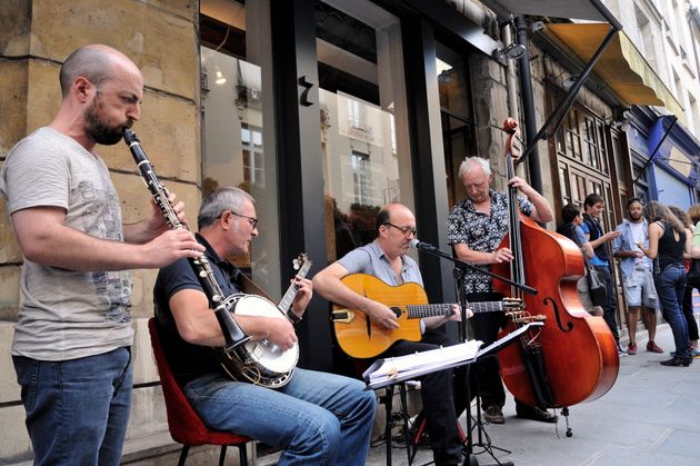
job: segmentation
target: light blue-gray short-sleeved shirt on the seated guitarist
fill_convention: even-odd
[[[403,267],[401,267],[402,282],[413,281],[420,286],[423,286],[423,279],[420,275],[420,269],[416,260],[408,256],[403,256]],[[381,250],[377,241],[372,241],[369,245],[364,245],[357,249],[351,250],[342,258],[338,259],[338,262],[343,266],[350,274],[367,274],[373,275],[383,282],[397,286],[401,285],[397,279],[396,274],[391,269],[391,264],[384,251]]]

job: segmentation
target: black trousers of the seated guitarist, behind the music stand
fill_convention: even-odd
[[[398,341],[381,357],[409,355],[440,346],[452,346],[457,343],[442,330],[429,330],[421,341]],[[440,370],[428,374],[420,380],[426,429],[430,437],[436,465],[461,464],[462,444],[457,427],[457,416],[466,406],[466,396],[462,395],[464,370],[463,368]]]

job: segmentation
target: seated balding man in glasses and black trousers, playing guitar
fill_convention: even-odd
[[[372,323],[383,329],[399,327],[394,311],[381,303],[362,296],[341,279],[350,274],[374,276],[388,285],[423,280],[413,259],[406,254],[409,241],[416,236],[416,217],[401,204],[389,204],[377,215],[377,238],[369,245],[359,247],[313,277],[313,287],[331,303],[363,311]],[[471,311],[469,311],[471,316]],[[421,341],[397,341],[381,356],[400,356],[450,346],[457,341],[450,339],[440,327],[448,320],[459,320],[458,306],[452,307],[449,317],[429,317],[423,319],[424,334]],[[464,408],[463,370],[442,370],[424,376],[421,383],[421,397],[426,414],[427,430],[433,450],[436,465],[462,464],[462,444],[460,442],[457,412]],[[453,380],[454,378],[454,380]],[[454,385],[458,387],[452,389]],[[456,403],[457,401],[457,403]],[[456,405],[459,406],[456,409]]]

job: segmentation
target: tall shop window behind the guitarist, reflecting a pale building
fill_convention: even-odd
[[[328,260],[374,238],[391,201],[412,207],[398,18],[367,0],[314,2]]]

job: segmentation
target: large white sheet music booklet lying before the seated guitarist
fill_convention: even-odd
[[[450,364],[472,359],[477,356],[481,341],[470,340],[454,346],[447,346],[413,355],[398,356],[380,359],[364,371],[363,377],[369,383],[376,384],[396,377],[411,376],[412,374],[426,374],[431,368],[440,368]]]

